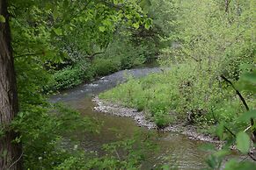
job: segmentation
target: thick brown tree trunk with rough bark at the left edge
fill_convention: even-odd
[[[11,32],[7,11],[7,0],[0,0],[0,169],[22,169],[21,144],[13,142],[18,134],[11,129],[11,121],[18,113],[18,94],[11,49]]]

